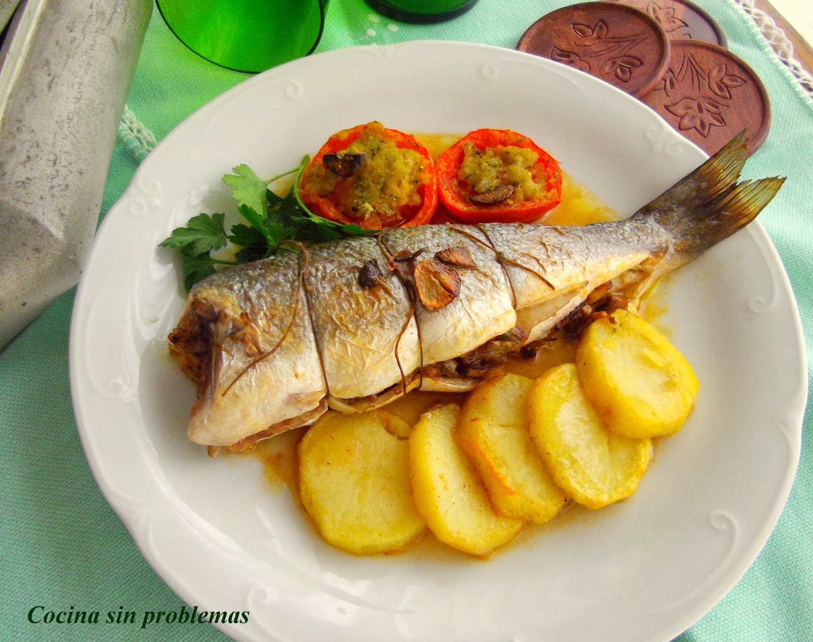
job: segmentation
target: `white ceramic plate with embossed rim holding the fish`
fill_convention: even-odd
[[[806,369],[789,282],[759,224],[667,284],[663,321],[701,382],[630,500],[574,513],[490,561],[328,547],[259,461],[185,439],[194,391],[165,337],[184,293],[157,248],[231,203],[220,177],[272,175],[368,120],[407,131],[510,127],[633,212],[705,158],[633,98],[546,59],[411,42],[315,55],[191,116],[108,213],[76,297],[74,408],[107,500],[189,605],[249,611],[237,640],[670,640],[733,587],[770,535],[800,452]]]

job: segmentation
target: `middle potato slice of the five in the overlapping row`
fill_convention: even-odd
[[[458,419],[454,439],[472,461],[494,512],[542,524],[567,501],[528,432],[528,391],[519,374],[481,383]]]

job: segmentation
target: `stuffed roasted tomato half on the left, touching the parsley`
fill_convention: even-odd
[[[432,156],[414,136],[372,122],[334,133],[308,162],[302,203],[365,229],[428,223],[437,207]]]

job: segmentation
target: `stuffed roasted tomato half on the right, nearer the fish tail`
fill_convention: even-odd
[[[511,129],[476,129],[437,158],[441,202],[467,223],[536,221],[562,200],[562,171]]]

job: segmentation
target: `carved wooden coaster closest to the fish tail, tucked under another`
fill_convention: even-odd
[[[771,126],[771,103],[759,76],[708,42],[672,41],[667,72],[641,100],[709,155],[746,128],[753,152]]]

